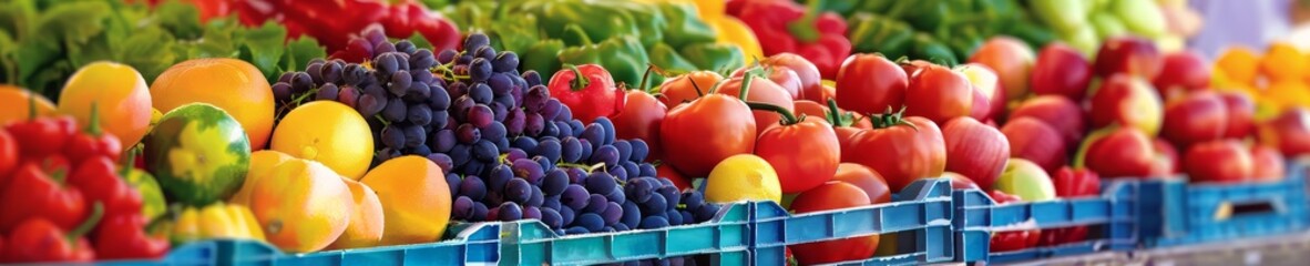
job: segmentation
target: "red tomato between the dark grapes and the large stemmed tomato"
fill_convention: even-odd
[[[668,107],[642,90],[627,90],[624,96],[627,104],[610,121],[620,139],[642,139],[650,147],[648,159],[662,159],[659,144],[659,124],[664,122]]]

